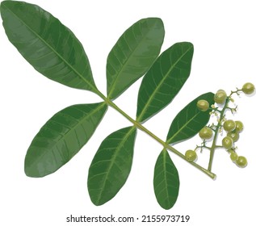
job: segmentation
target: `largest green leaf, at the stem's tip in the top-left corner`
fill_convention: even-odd
[[[82,44],[57,18],[26,2],[1,2],[6,36],[40,73],[65,86],[96,92]]]

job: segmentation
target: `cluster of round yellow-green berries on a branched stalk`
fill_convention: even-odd
[[[246,157],[238,156],[235,147],[235,142],[239,139],[240,133],[243,131],[244,125],[241,121],[234,121],[232,119],[225,119],[225,112],[231,111],[232,113],[237,111],[236,107],[230,107],[230,102],[233,103],[233,94],[240,95],[244,93],[247,95],[253,94],[255,87],[252,83],[247,82],[241,89],[236,91],[231,91],[229,96],[226,94],[225,90],[217,90],[214,95],[214,102],[211,107],[208,101],[201,99],[197,102],[197,107],[200,111],[208,111],[211,115],[216,115],[217,123],[212,123],[212,125],[205,126],[199,131],[199,137],[203,140],[200,146],[196,146],[194,150],[187,150],[185,157],[187,161],[196,161],[198,149],[208,149],[210,150],[210,160],[208,164],[208,170],[212,168],[212,158],[215,149],[225,149],[229,155],[230,159],[239,167],[244,168],[247,165]],[[217,107],[216,107],[217,106]],[[221,145],[216,144],[216,140],[219,134],[223,134],[225,131],[225,137],[221,141]],[[212,146],[208,146],[207,143],[212,142]]]

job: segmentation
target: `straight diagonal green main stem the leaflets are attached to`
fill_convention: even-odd
[[[111,99],[105,97],[105,95],[102,94],[100,91],[99,91],[99,93],[97,92],[97,94],[99,94],[99,97],[103,98],[104,102],[107,103],[108,106],[114,108],[115,111],[120,112],[120,114],[123,115],[126,119],[128,119],[136,128],[138,128],[141,131],[145,132],[146,134],[151,136],[154,140],[157,140],[158,143],[162,144],[164,149],[170,150],[171,152],[173,152],[176,155],[178,155],[178,157],[181,157],[181,158],[183,158],[183,160],[187,161],[187,159],[183,155],[183,153],[178,152],[177,149],[174,149],[174,147],[170,146],[170,144],[167,144],[165,141],[160,139],[158,136],[154,135],[153,132],[150,132],[141,123],[138,123],[136,120],[132,119],[132,117],[127,115],[122,109],[120,109],[120,107],[116,106],[115,103],[113,103],[111,101]],[[187,161],[187,162],[190,163],[191,165],[194,165],[195,168],[197,168],[198,170],[201,170],[202,172],[204,172],[204,174],[207,174],[210,178],[212,178],[212,179],[216,178],[216,174],[213,174],[210,170],[204,169],[204,167],[202,167],[201,165],[196,164],[194,161],[192,161],[192,162],[191,161]]]

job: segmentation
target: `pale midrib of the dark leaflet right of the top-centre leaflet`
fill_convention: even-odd
[[[151,96],[149,96],[147,103],[145,103],[145,107],[143,108],[143,110],[141,111],[141,115],[139,115],[137,117],[137,121],[141,122],[141,118],[143,118],[145,111],[147,111],[148,107],[150,106],[150,103],[153,101],[153,97],[155,96],[155,94],[157,93],[157,91],[160,89],[160,87],[162,86],[163,82],[166,80],[166,77],[168,77],[169,73],[171,73],[171,71],[174,69],[174,67],[178,64],[178,62],[187,54],[187,52],[189,52],[191,50],[192,47],[188,48],[186,52],[183,53],[183,55],[181,57],[178,58],[178,60],[174,63],[174,65],[172,65],[170,67],[170,69],[167,71],[166,75],[164,77],[162,77],[162,80],[160,83],[158,83],[158,86],[153,90],[153,93]],[[162,57],[161,57],[162,58]],[[160,59],[161,61],[161,59]]]

